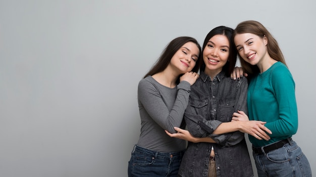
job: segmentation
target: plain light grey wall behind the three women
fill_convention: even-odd
[[[1,0],[0,176],[127,176],[138,81],[173,38],[244,20],[279,42],[316,174],[315,15],[312,0]]]

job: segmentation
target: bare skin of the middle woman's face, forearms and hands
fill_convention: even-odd
[[[226,64],[229,56],[229,41],[224,35],[215,35],[209,39],[204,51],[203,60],[205,63],[204,72],[212,79],[222,71],[223,66]],[[234,131],[241,131],[243,133],[250,134],[257,139],[269,140],[270,136],[266,133],[272,134],[272,132],[265,127],[266,122],[262,121],[249,121],[248,116],[243,111],[238,111],[232,115],[231,122],[224,122],[220,124],[213,134],[224,134]],[[215,142],[209,137],[196,138],[193,137],[189,131],[175,127],[178,133],[166,133],[175,138],[184,139],[191,142]],[[211,155],[214,152],[211,153]]]

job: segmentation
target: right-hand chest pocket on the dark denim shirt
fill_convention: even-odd
[[[219,112],[218,120],[222,122],[230,122],[232,120],[235,101],[234,100],[220,100],[219,101]]]

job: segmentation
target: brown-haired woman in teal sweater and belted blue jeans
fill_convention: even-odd
[[[245,21],[236,27],[234,43],[248,74],[249,119],[267,122],[272,131],[269,141],[249,136],[258,176],[311,176],[291,138],[298,128],[295,83],[277,41],[259,22]]]

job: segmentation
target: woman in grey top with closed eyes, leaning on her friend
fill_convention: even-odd
[[[183,127],[191,85],[198,78],[201,48],[191,37],[172,40],[138,84],[141,131],[128,176],[177,176],[186,142],[169,137]],[[181,125],[182,124],[182,125]]]

